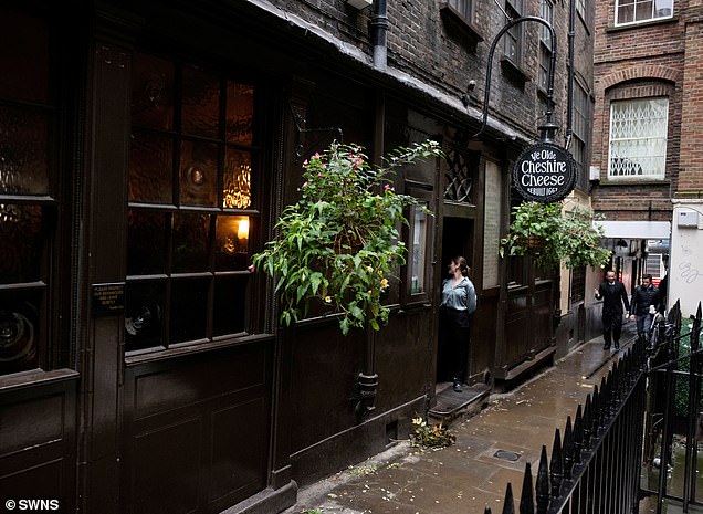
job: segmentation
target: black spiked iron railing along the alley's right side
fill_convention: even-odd
[[[556,429],[550,458],[542,447],[535,480],[529,463],[525,465],[520,496],[520,514],[634,514],[644,494],[658,494],[658,513],[665,490],[671,447],[674,374],[685,357],[689,363],[689,416],[686,432],[684,511],[695,497],[696,429],[699,428],[701,389],[701,305],[690,333],[690,353],[680,355],[681,308],[679,302],[667,318],[655,319],[652,342],[637,340],[625,356],[594,387],[592,395],[579,405],[571,422],[566,420],[564,436]],[[659,375],[663,374],[663,378]],[[665,391],[662,396],[661,392]],[[659,400],[653,399],[659,394]],[[663,398],[663,401],[662,401]],[[663,409],[657,423],[652,413]],[[657,429],[652,429],[653,426]],[[647,439],[647,450],[644,440]],[[658,491],[640,487],[642,464],[660,441],[661,481]],[[649,459],[651,463],[651,459]],[[534,486],[533,486],[534,482]],[[515,513],[512,484],[507,484],[503,514]],[[485,514],[492,514],[486,507]]]

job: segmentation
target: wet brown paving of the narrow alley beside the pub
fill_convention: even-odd
[[[285,514],[483,514],[486,506],[500,513],[507,483],[520,499],[525,464],[536,472],[542,445],[550,452],[555,430],[564,431],[567,416],[574,420],[617,358],[602,350],[601,338],[583,344],[517,389],[491,396],[479,413],[453,420],[451,447],[432,451],[400,442],[301,489]]]

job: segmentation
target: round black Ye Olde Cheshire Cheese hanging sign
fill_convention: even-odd
[[[539,203],[563,200],[576,183],[574,159],[552,143],[529,146],[513,167],[513,183],[525,200]]]

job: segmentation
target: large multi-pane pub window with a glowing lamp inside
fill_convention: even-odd
[[[244,335],[254,86],[146,53],[132,82],[126,349]]]

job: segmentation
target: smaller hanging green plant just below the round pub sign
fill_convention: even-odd
[[[523,202],[513,208],[508,234],[500,253],[531,255],[541,269],[604,266],[610,251],[600,246],[602,229],[592,224],[586,209],[562,213],[562,203]]]

